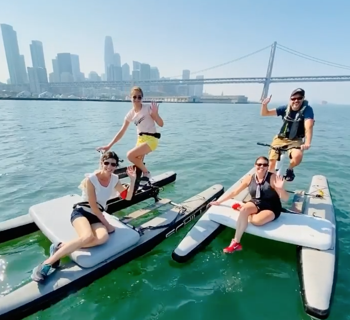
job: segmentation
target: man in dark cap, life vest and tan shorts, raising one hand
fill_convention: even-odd
[[[305,91],[301,88],[295,89],[289,98],[288,105],[280,106],[276,109],[267,109],[267,104],[271,100],[271,95],[262,101],[262,116],[281,116],[283,125],[278,135],[273,138],[271,145],[273,147],[300,147],[300,149],[291,149],[288,151],[290,163],[285,174],[287,181],[294,180],[293,168],[300,164],[303,157],[303,150],[310,148],[313,126],[314,111],[305,99]],[[275,171],[278,155],[273,149],[269,150],[269,171]]]

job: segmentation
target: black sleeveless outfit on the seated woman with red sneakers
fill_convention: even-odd
[[[264,181],[258,186],[254,173],[248,185],[248,190],[252,198],[250,202],[253,202],[253,204],[257,206],[258,212],[270,210],[275,214],[275,218],[273,220],[276,220],[281,215],[282,204],[277,192],[271,187],[271,175],[271,172],[267,172]],[[259,198],[256,197],[258,187],[260,187]]]

